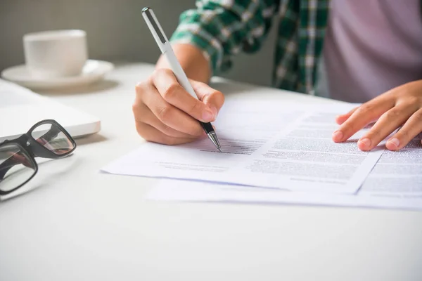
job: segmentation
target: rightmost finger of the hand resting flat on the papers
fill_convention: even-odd
[[[388,150],[400,150],[422,131],[422,109],[414,112],[401,129],[392,136],[385,146]]]

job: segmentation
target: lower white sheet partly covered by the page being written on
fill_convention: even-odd
[[[197,181],[161,180],[150,192],[148,199],[422,210],[421,136],[422,134],[399,152],[385,150],[356,195],[288,192]]]

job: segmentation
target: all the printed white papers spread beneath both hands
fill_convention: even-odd
[[[354,106],[231,101],[215,122],[223,152],[207,139],[146,143],[103,171],[178,179],[162,181],[154,200],[422,208],[420,139],[401,152],[360,151],[367,129],[331,141],[335,115]]]

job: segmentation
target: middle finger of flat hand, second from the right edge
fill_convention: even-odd
[[[416,111],[414,106],[397,105],[385,112],[372,128],[357,142],[360,150],[369,151],[376,147],[384,138],[400,125],[406,122]]]

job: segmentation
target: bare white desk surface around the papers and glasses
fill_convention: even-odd
[[[143,143],[132,102],[152,70],[120,65],[89,89],[44,93],[101,117],[102,130],[77,140],[73,157],[41,164],[32,192],[0,202],[1,281],[422,280],[421,212],[152,202],[155,179],[101,174]],[[215,87],[227,98],[333,102]]]

